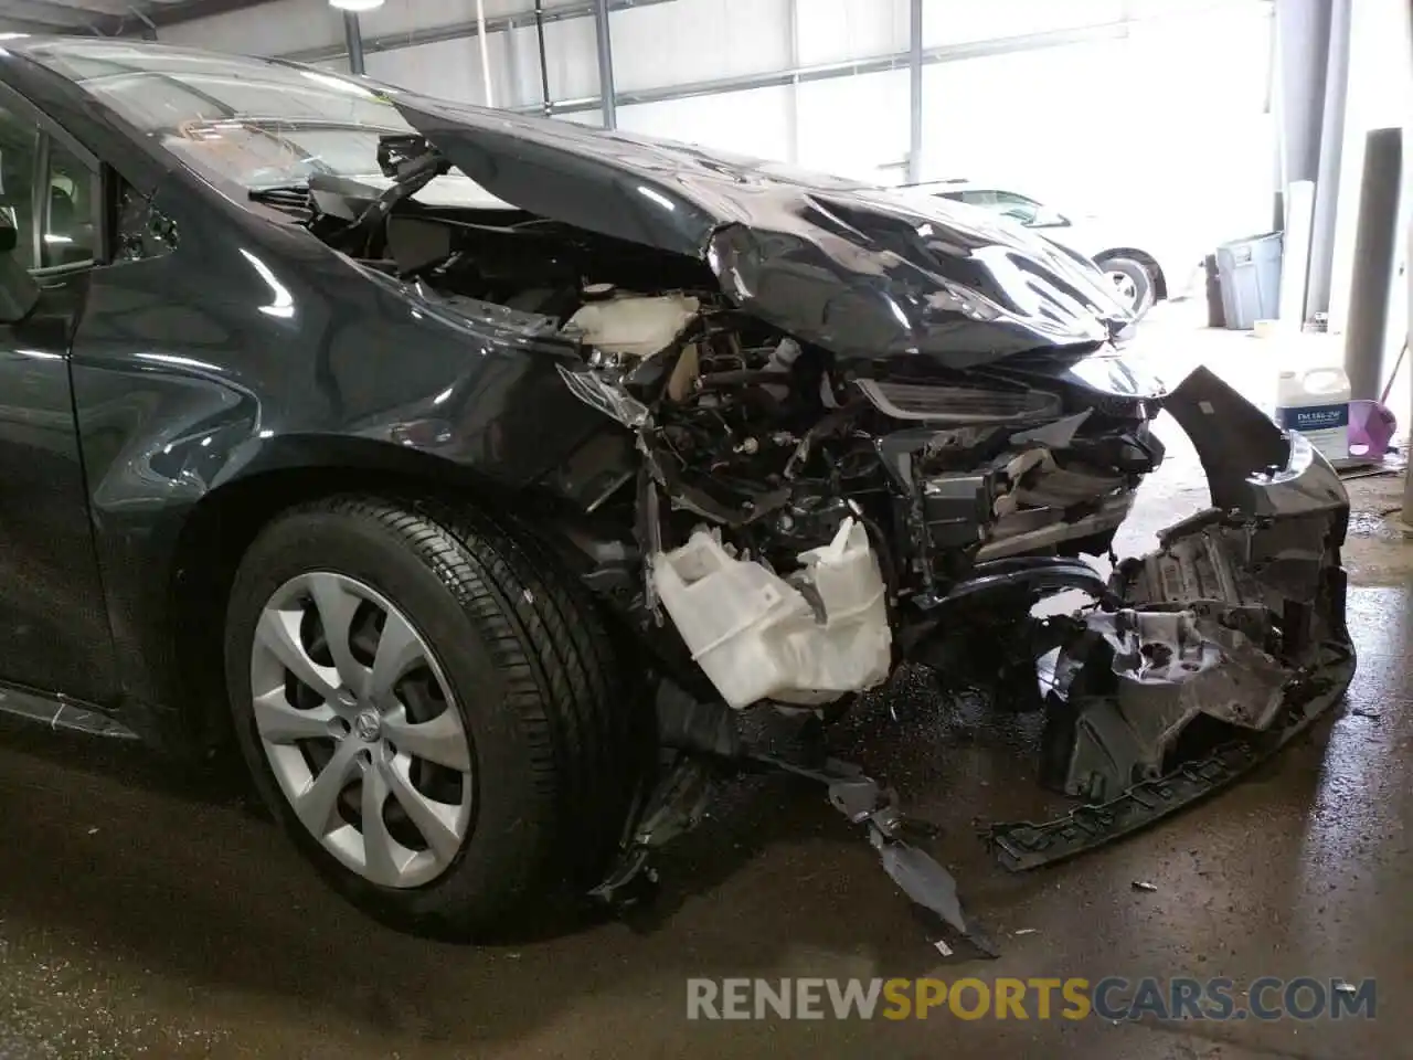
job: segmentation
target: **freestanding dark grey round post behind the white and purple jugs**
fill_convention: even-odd
[[[1349,396],[1354,399],[1378,399],[1382,389],[1395,250],[1402,236],[1396,230],[1402,181],[1403,130],[1371,130],[1354,237],[1349,324],[1344,334],[1344,370],[1349,376]]]

